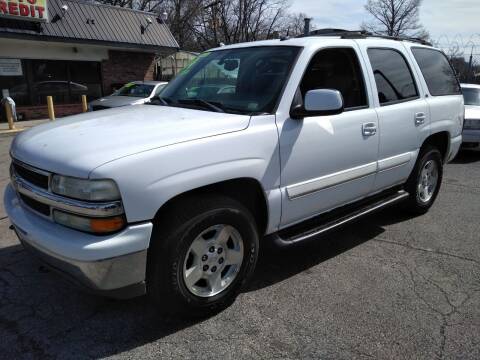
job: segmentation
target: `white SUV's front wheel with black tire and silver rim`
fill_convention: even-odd
[[[208,316],[230,305],[249,279],[259,238],[250,212],[234,199],[179,200],[155,224],[147,291],[168,313]]]

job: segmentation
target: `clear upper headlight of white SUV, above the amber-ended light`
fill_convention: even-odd
[[[113,180],[85,180],[68,176],[54,175],[51,181],[52,192],[66,197],[87,201],[119,200],[120,192]]]

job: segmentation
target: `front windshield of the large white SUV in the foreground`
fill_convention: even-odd
[[[174,106],[271,113],[299,49],[249,47],[200,54],[168,84],[161,98]]]

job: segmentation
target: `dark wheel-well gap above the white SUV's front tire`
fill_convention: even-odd
[[[268,207],[265,192],[260,183],[251,178],[222,181],[179,194],[162,205],[157,211],[155,218],[161,219],[162,215],[168,213],[171,206],[180,200],[185,200],[193,195],[208,193],[222,194],[240,202],[255,218],[259,234],[263,235],[265,233],[268,225]]]

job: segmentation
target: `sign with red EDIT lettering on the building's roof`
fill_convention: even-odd
[[[0,0],[0,17],[48,21],[47,0]]]

